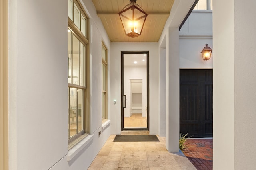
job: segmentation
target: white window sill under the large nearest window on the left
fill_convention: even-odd
[[[94,135],[88,135],[86,134],[84,139],[82,139],[80,142],[76,143],[70,150],[68,150],[67,160],[72,160],[81,150],[83,150],[86,147],[89,147],[89,144],[91,144],[92,137]]]

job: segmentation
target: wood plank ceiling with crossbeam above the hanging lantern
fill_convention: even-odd
[[[92,0],[111,42],[158,42],[170,15],[174,0],[137,0],[136,4],[149,15],[139,37],[125,35],[118,12],[130,0]]]

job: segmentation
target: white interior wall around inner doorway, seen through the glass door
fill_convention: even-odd
[[[130,79],[142,79],[142,117],[145,117],[145,106],[147,105],[147,67],[124,66],[124,95],[126,95],[124,117],[130,117]]]

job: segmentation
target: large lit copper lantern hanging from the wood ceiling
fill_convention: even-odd
[[[125,35],[135,38],[140,36],[148,14],[136,4],[136,0],[130,0],[130,2],[118,14],[124,27]]]

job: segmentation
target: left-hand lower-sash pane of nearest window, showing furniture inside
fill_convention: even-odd
[[[76,125],[76,115],[77,115],[77,89],[76,88],[70,88],[70,109],[69,109],[69,115],[70,115],[70,137],[77,134],[77,125]]]

